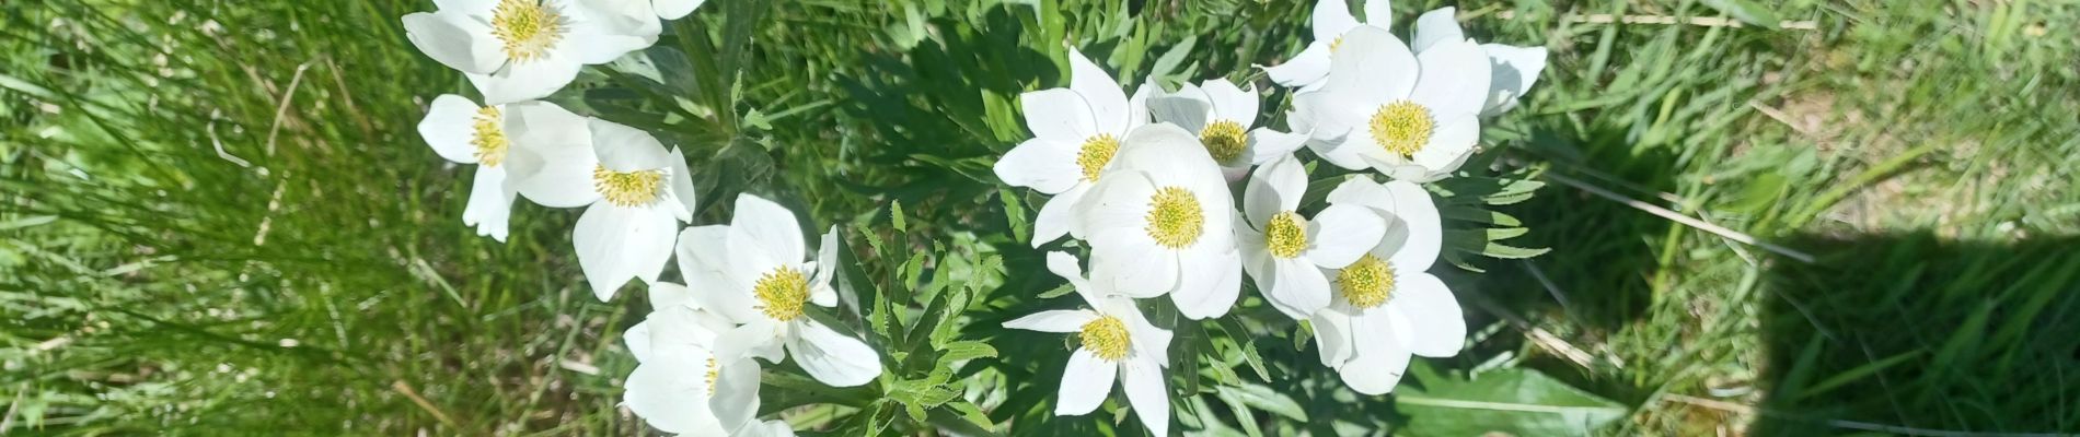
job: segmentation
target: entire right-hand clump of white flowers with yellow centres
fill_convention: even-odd
[[[1005,153],[996,176],[1052,195],[1032,244],[1069,234],[1092,271],[1086,280],[1075,255],[1048,253],[1048,269],[1088,309],[1005,323],[1082,340],[1057,414],[1090,412],[1117,375],[1142,425],[1165,435],[1171,394],[1148,391],[1167,387],[1169,356],[1150,354],[1163,354],[1169,331],[1150,325],[1142,311],[1152,302],[1136,298],[1167,294],[1159,311],[1223,317],[1244,273],[1269,307],[1312,325],[1323,367],[1358,394],[1392,391],[1410,356],[1458,354],[1466,323],[1429,273],[1444,228],[1423,184],[1458,174],[1477,151],[1479,118],[1516,106],[1545,50],[1475,43],[1452,8],[1425,12],[1410,46],[1387,31],[1387,0],[1369,0],[1364,12],[1371,23],[1344,0],[1321,0],[1315,41],[1265,68],[1294,89],[1290,133],[1263,128],[1263,95],[1225,79],[1179,91],[1144,83],[1152,114],[1090,110],[1119,108],[1123,93],[1094,83],[1111,77],[1075,50],[1071,87],[1021,95],[1034,139]],[[1150,116],[1154,124],[1140,124]],[[1302,145],[1360,174],[1325,205],[1306,205]]]

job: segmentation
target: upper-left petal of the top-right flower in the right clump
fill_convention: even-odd
[[[1360,25],[1344,33],[1335,62],[1329,64],[1329,83],[1323,85],[1323,93],[1348,95],[1364,106],[1387,104],[1408,95],[1416,87],[1416,56],[1400,37],[1379,27]],[[1481,77],[1487,81],[1487,70],[1481,70]],[[1367,114],[1371,110],[1364,108]]]

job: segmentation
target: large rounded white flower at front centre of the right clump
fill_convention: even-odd
[[[1206,147],[1177,124],[1127,133],[1119,164],[1077,205],[1094,282],[1134,298],[1169,294],[1192,319],[1227,315],[1242,292],[1236,205]]]

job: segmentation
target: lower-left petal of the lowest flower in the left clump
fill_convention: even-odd
[[[655,360],[628,375],[622,404],[657,431],[726,433],[707,408],[705,360]]]

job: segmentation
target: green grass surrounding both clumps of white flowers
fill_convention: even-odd
[[[1061,83],[1059,41],[1121,79],[1175,81],[1248,79],[1306,35],[1288,0],[743,4],[718,0],[661,43],[755,35],[686,56],[713,75],[653,89],[595,68],[560,104],[686,145],[701,224],[738,191],[817,230],[901,201],[899,253],[1011,265],[971,325],[1059,286],[1032,273],[1040,255],[1003,195],[1025,213],[1036,199],[988,172],[1025,137],[1015,95]],[[1458,4],[1483,41],[1554,50],[1525,108],[1487,130],[1502,166],[1545,174],[1502,211],[1531,228],[1516,244],[1552,253],[1448,273],[1477,344],[1419,371],[1541,371],[1622,404],[1608,435],[2080,433],[2080,4],[1760,2],[1810,29],[1568,19],[1724,2],[1396,4],[1396,29]],[[641,292],[584,290],[572,211],[520,205],[510,242],[474,236],[470,170],[412,130],[433,95],[468,89],[401,35],[397,17],[428,8],[0,4],[0,431],[647,433],[616,406]],[[732,91],[718,70],[734,66]],[[1290,329],[1236,329],[1273,336],[1254,346],[1275,385],[1319,394],[1304,414],[1421,431],[1404,420],[1421,406],[1319,391]],[[1000,369],[973,377],[1055,379],[1050,340],[990,338]],[[1046,433],[1046,404],[1021,391],[1050,389],[976,387],[994,420]],[[1335,433],[1256,414],[1273,435]],[[1109,418],[1048,425],[1094,423]]]

